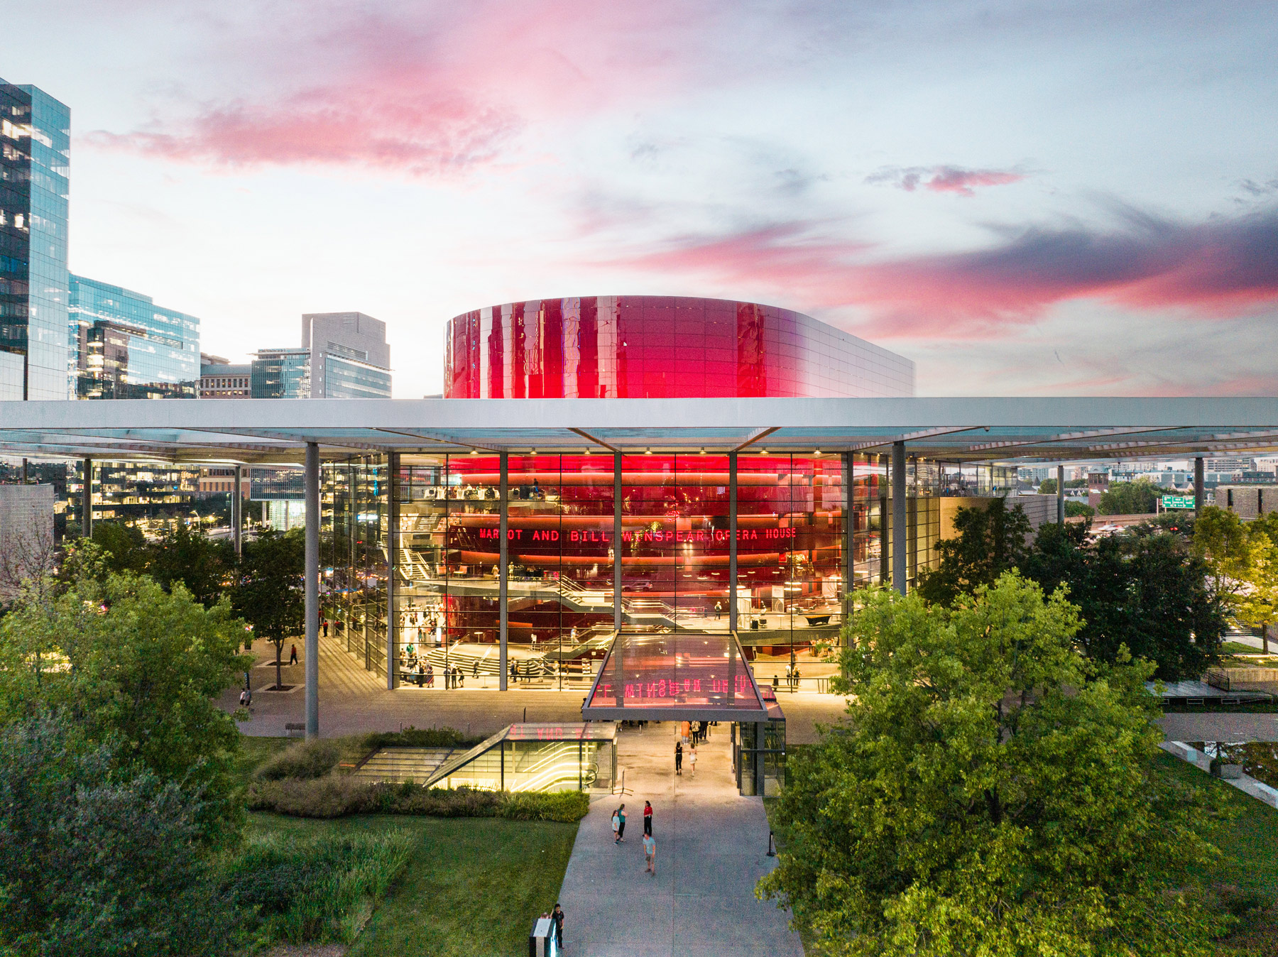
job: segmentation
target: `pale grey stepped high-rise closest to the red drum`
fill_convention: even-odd
[[[359,312],[302,317],[300,349],[262,349],[253,359],[253,399],[390,399],[386,323]]]

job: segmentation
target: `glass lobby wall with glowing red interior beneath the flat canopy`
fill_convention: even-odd
[[[369,671],[385,673],[390,648],[399,684],[446,689],[497,686],[504,611],[516,686],[589,682],[619,618],[654,634],[727,631],[730,456],[624,455],[620,477],[616,460],[511,454],[505,497],[493,452],[325,465],[334,635]],[[914,578],[932,561],[944,473],[912,459],[907,468]],[[749,658],[785,673],[814,643],[837,639],[849,584],[883,581],[891,566],[889,486],[878,455],[737,454],[736,612]]]

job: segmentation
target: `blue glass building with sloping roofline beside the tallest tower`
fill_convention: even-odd
[[[81,399],[194,399],[199,319],[148,295],[70,277],[70,328]]]

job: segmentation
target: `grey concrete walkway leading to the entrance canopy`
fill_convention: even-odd
[[[754,897],[774,866],[759,797],[732,779],[728,726],[698,747],[695,778],[685,755],[675,777],[671,722],[622,728],[619,773],[633,795],[590,804],[569,860],[560,902],[565,951],[583,957],[803,957],[789,914]],[[643,802],[653,804],[657,877],[644,873]],[[612,810],[626,805],[626,839],[612,842]]]

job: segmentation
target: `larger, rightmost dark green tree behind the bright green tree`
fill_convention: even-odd
[[[1224,608],[1206,563],[1167,533],[1109,535],[1044,525],[1021,571],[1044,589],[1068,588],[1081,615],[1077,641],[1097,662],[1132,654],[1164,681],[1196,678],[1219,661]]]

